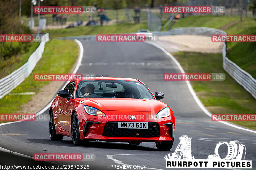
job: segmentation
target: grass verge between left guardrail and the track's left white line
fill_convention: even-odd
[[[32,73],[11,93],[35,92],[49,84],[49,81],[34,81],[35,73],[69,73],[78,56],[78,45],[71,40],[50,40],[45,44],[41,60]],[[33,95],[6,95],[0,99],[0,113],[17,113],[21,105],[27,103]],[[0,123],[3,123],[0,121]]]

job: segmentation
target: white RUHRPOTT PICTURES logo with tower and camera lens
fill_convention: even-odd
[[[252,168],[251,160],[244,160],[246,155],[245,145],[238,143],[239,141],[219,142],[215,147],[215,152],[208,155],[208,159],[195,159],[192,155],[191,139],[187,135],[180,138],[172,155],[169,153],[166,159],[166,168]],[[227,155],[221,158],[219,148],[221,145],[228,147]]]

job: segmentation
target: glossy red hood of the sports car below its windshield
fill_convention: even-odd
[[[78,98],[78,100],[101,111],[159,112],[167,107],[165,103],[153,99]]]

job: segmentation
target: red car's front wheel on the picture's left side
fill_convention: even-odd
[[[78,117],[76,115],[76,112],[72,116],[72,120],[71,120],[71,135],[72,135],[72,141],[74,145],[78,146],[82,143],[80,140],[79,124],[78,124]]]

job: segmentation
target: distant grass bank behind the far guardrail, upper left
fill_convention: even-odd
[[[45,30],[44,33],[49,33],[50,38],[79,36],[79,35],[95,35],[108,33],[132,33],[139,29],[147,29],[147,23],[140,24],[117,24],[110,26],[79,26],[68,29],[52,29]]]

